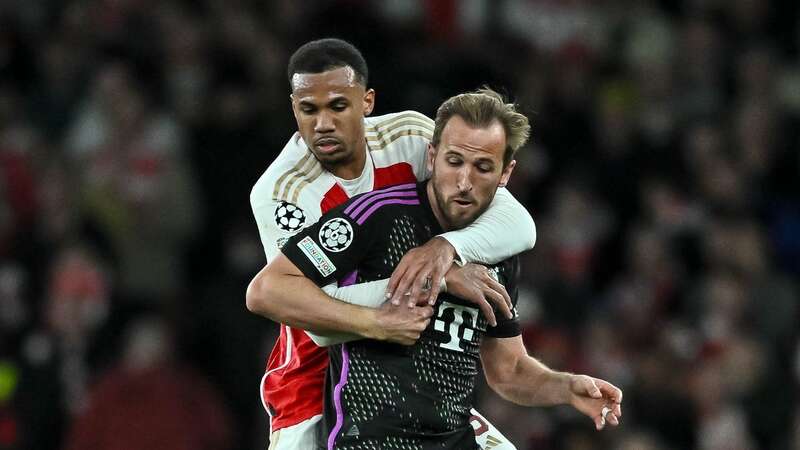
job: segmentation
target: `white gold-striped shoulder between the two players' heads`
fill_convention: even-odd
[[[364,125],[370,150],[383,149],[398,141],[403,143],[409,138],[430,141],[433,137],[433,120],[416,111],[367,117]]]

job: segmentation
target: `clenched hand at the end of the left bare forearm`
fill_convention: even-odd
[[[407,308],[404,305],[384,302],[375,310],[376,330],[374,336],[370,337],[402,345],[414,345],[431,321],[431,316],[433,308],[430,306]]]

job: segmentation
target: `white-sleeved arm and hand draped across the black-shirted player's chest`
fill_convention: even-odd
[[[530,250],[535,243],[533,218],[507,189],[500,188],[489,208],[475,222],[406,253],[392,273],[387,292],[394,302],[409,297],[415,303],[431,303],[439,294],[441,277],[454,260],[493,264]],[[434,287],[423,292],[421,287],[428,277]],[[491,301],[488,297],[484,299]]]

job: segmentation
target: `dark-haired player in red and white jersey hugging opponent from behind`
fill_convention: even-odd
[[[268,260],[289,237],[353,195],[429,176],[425,154],[433,121],[413,111],[367,117],[375,93],[366,88],[366,63],[350,44],[336,39],[310,42],[292,56],[288,72],[299,131],[250,197]],[[424,280],[433,280],[437,288],[431,289],[430,297],[435,299],[439,281],[454,260],[498,262],[532,248],[536,232],[525,208],[500,189],[475,223],[440,237],[403,259],[401,266],[407,270],[391,284],[393,300],[405,291],[416,299]],[[317,262],[319,270],[331,270],[326,267],[329,261]],[[340,280],[344,284],[347,280]],[[490,311],[489,301],[503,301],[488,288],[483,295],[485,299],[474,301],[482,301]],[[407,342],[409,336],[419,337],[427,325],[427,319],[421,326],[419,320],[406,320],[413,313],[403,311],[387,322],[373,308],[327,299],[296,300],[291,305],[248,304],[251,311],[283,324],[261,383],[262,401],[271,418],[271,449],[315,445],[328,355],[303,330]]]

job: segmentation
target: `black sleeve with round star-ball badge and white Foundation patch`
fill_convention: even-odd
[[[292,236],[281,252],[303,275],[324,286],[355,270],[371,244],[372,220],[357,223],[345,214],[345,203]]]

